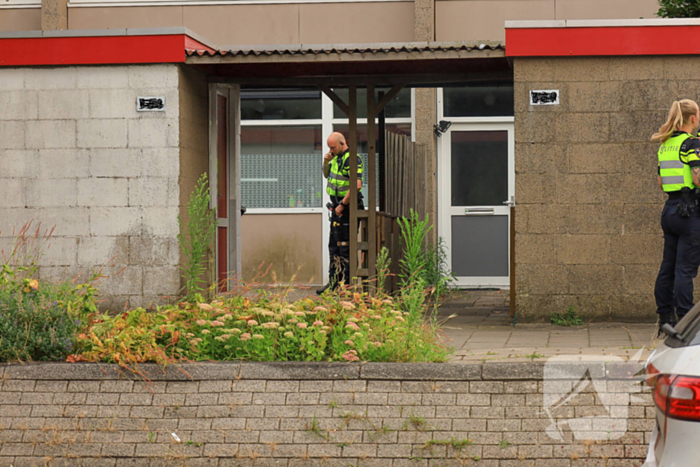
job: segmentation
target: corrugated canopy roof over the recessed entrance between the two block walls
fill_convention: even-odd
[[[186,63],[213,81],[256,85],[280,78],[289,86],[512,79],[505,46],[493,41],[219,46],[188,49]]]

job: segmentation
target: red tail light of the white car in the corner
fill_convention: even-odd
[[[700,421],[700,378],[658,375],[653,390],[654,403],[667,417]]]

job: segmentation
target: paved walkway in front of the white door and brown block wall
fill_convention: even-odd
[[[507,290],[455,291],[442,303],[438,322],[451,363],[545,361],[555,355],[614,355],[646,359],[656,348],[653,323],[589,323],[556,326],[516,323],[510,317]]]

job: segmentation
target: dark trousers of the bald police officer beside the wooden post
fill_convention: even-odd
[[[342,197],[331,196],[334,205],[340,203],[342,199]],[[361,193],[358,193],[357,205],[358,210],[365,208]],[[336,215],[335,209],[331,213],[328,256],[330,257],[328,283],[331,288],[336,288],[341,282],[350,283],[350,206],[343,208],[343,215],[340,217]]]

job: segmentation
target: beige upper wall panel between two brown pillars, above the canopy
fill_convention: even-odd
[[[168,26],[190,28],[219,45],[408,42],[413,2],[69,9],[70,29]]]

